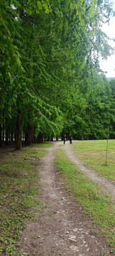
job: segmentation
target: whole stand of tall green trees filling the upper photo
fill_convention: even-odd
[[[115,139],[108,0],[0,1],[0,146],[53,136]]]

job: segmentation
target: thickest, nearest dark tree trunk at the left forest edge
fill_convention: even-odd
[[[21,147],[21,110],[18,110],[16,119],[16,150],[20,150]]]

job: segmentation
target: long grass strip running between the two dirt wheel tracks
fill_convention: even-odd
[[[111,250],[115,250],[114,206],[109,196],[103,195],[97,185],[90,183],[62,149],[56,151],[55,162],[60,174],[65,176],[67,191],[75,195],[75,200],[84,208],[82,213],[92,218],[101,230],[99,235],[104,235]]]

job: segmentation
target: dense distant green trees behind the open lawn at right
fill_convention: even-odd
[[[75,139],[105,139],[109,128],[110,138],[114,138],[114,102],[111,85],[104,75],[96,70],[80,82],[79,97],[73,100],[70,122],[65,121],[64,129]],[[87,86],[86,86],[87,85]],[[75,101],[77,100],[77,101]]]

